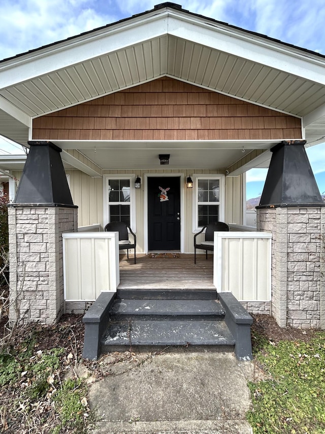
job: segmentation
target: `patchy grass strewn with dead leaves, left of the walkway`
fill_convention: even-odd
[[[31,335],[0,353],[0,415],[6,415],[8,432],[86,432],[85,381],[65,378],[71,368],[65,349],[42,352],[36,342]]]

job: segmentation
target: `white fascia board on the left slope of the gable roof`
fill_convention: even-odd
[[[0,64],[0,89],[167,34],[168,14],[126,21]]]

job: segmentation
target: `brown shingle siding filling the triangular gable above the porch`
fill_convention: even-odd
[[[301,120],[164,77],[47,114],[33,139],[300,139]]]

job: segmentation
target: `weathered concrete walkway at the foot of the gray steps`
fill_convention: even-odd
[[[245,413],[253,365],[231,352],[168,348],[119,363],[109,355],[103,365],[110,375],[90,385],[94,434],[252,432]]]

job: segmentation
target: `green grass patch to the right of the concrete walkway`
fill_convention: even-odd
[[[325,333],[278,344],[260,337],[254,353],[265,379],[249,383],[253,432],[325,433]]]

